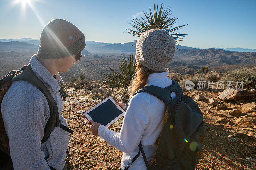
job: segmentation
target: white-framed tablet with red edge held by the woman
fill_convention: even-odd
[[[85,111],[84,117],[89,122],[93,120],[108,128],[123,117],[124,112],[124,109],[122,109],[121,106],[116,105],[116,101],[111,96],[108,96],[100,103]]]

